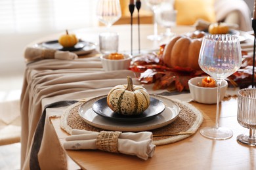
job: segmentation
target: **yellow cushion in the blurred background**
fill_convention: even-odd
[[[215,0],[175,0],[177,25],[193,25],[198,19],[216,22]]]

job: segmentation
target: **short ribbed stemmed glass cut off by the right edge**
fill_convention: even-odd
[[[241,134],[238,142],[256,146],[256,89],[246,88],[238,92],[238,123],[249,128],[249,136]]]

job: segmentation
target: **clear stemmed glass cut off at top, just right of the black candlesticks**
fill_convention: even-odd
[[[160,7],[161,3],[165,0],[146,0],[146,5],[150,7],[150,9],[154,13],[154,35],[148,35],[148,39],[152,41],[160,41],[162,39],[161,35],[158,35],[158,22],[156,21],[156,11],[158,7]]]

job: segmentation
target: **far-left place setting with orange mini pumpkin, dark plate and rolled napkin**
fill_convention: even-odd
[[[24,52],[27,63],[41,59],[73,60],[95,51],[96,44],[78,39],[74,33],[60,35],[58,40],[39,42],[28,46]],[[95,51],[96,52],[96,51]]]

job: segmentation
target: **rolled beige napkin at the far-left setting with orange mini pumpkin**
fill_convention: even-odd
[[[51,58],[72,60],[78,58],[77,54],[73,52],[33,47],[26,48],[24,57],[27,61]]]

